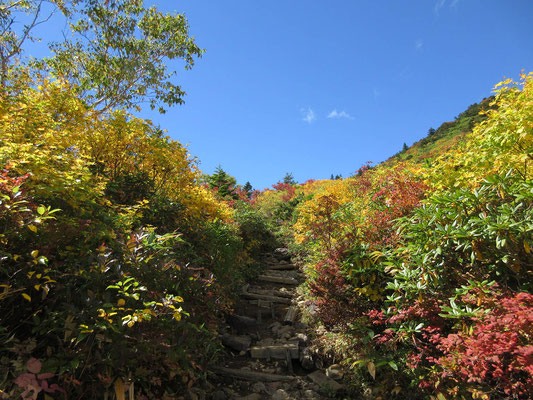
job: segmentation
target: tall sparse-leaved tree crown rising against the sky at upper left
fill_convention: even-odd
[[[166,62],[181,59],[185,69],[203,53],[189,37],[185,17],[146,8],[143,0],[51,0],[64,15],[71,35],[49,45],[51,57],[32,62],[37,69],[69,81],[92,108],[170,107],[183,103],[185,92],[173,81],[176,71]],[[10,63],[20,57],[31,30],[47,18],[39,17],[43,0],[10,1],[0,8],[2,81]],[[15,18],[34,19],[22,32]]]

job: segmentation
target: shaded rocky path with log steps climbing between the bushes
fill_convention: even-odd
[[[296,287],[304,275],[287,249],[264,257],[265,271],[242,288],[235,313],[221,327],[226,348],[208,378],[213,400],[342,398],[337,366],[321,367],[307,347],[308,328],[299,319]]]

